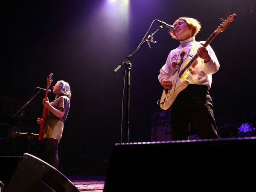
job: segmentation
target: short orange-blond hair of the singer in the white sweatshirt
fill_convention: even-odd
[[[192,17],[179,17],[177,20],[175,20],[175,22],[173,23],[173,26],[175,26],[175,24],[177,23],[178,20],[183,20],[185,21],[188,26],[189,26],[189,29],[192,29],[192,37],[195,37],[198,32],[200,31],[201,29],[201,23],[195,19],[195,18],[192,18]],[[169,34],[172,35],[172,38],[174,39],[179,39],[176,35],[175,35],[175,31],[172,30],[172,31],[169,31]]]

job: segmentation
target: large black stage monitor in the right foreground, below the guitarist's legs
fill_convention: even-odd
[[[255,149],[256,137],[116,143],[104,192],[253,187],[255,177],[249,175],[256,171]]]

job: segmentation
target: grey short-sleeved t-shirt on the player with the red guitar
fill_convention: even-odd
[[[49,111],[48,113],[48,117],[52,118],[52,119],[59,119],[63,122],[65,122],[66,118],[67,118],[67,114],[69,112],[70,109],[70,99],[67,96],[60,96],[57,99],[55,99],[54,101],[52,101],[50,103],[55,109],[64,109],[65,114],[63,115],[62,118],[56,117],[52,112]]]

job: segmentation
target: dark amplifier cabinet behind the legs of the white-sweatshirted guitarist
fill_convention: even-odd
[[[151,114],[151,141],[172,140],[170,111]]]

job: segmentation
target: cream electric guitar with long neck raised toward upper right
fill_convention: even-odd
[[[221,25],[218,26],[218,28],[215,29],[215,31],[206,40],[206,42],[204,43],[204,47],[207,47],[219,33],[224,32],[230,22],[235,19],[235,17],[236,14],[234,13],[227,17],[227,19],[224,20]],[[177,95],[189,85],[189,80],[187,80],[186,78],[189,77],[189,70],[193,63],[195,63],[197,58],[198,55],[195,54],[191,60],[189,58],[186,59],[180,66],[180,69],[169,79],[172,81],[173,86],[172,89],[163,90],[160,102],[158,103],[161,109],[169,109]]]

